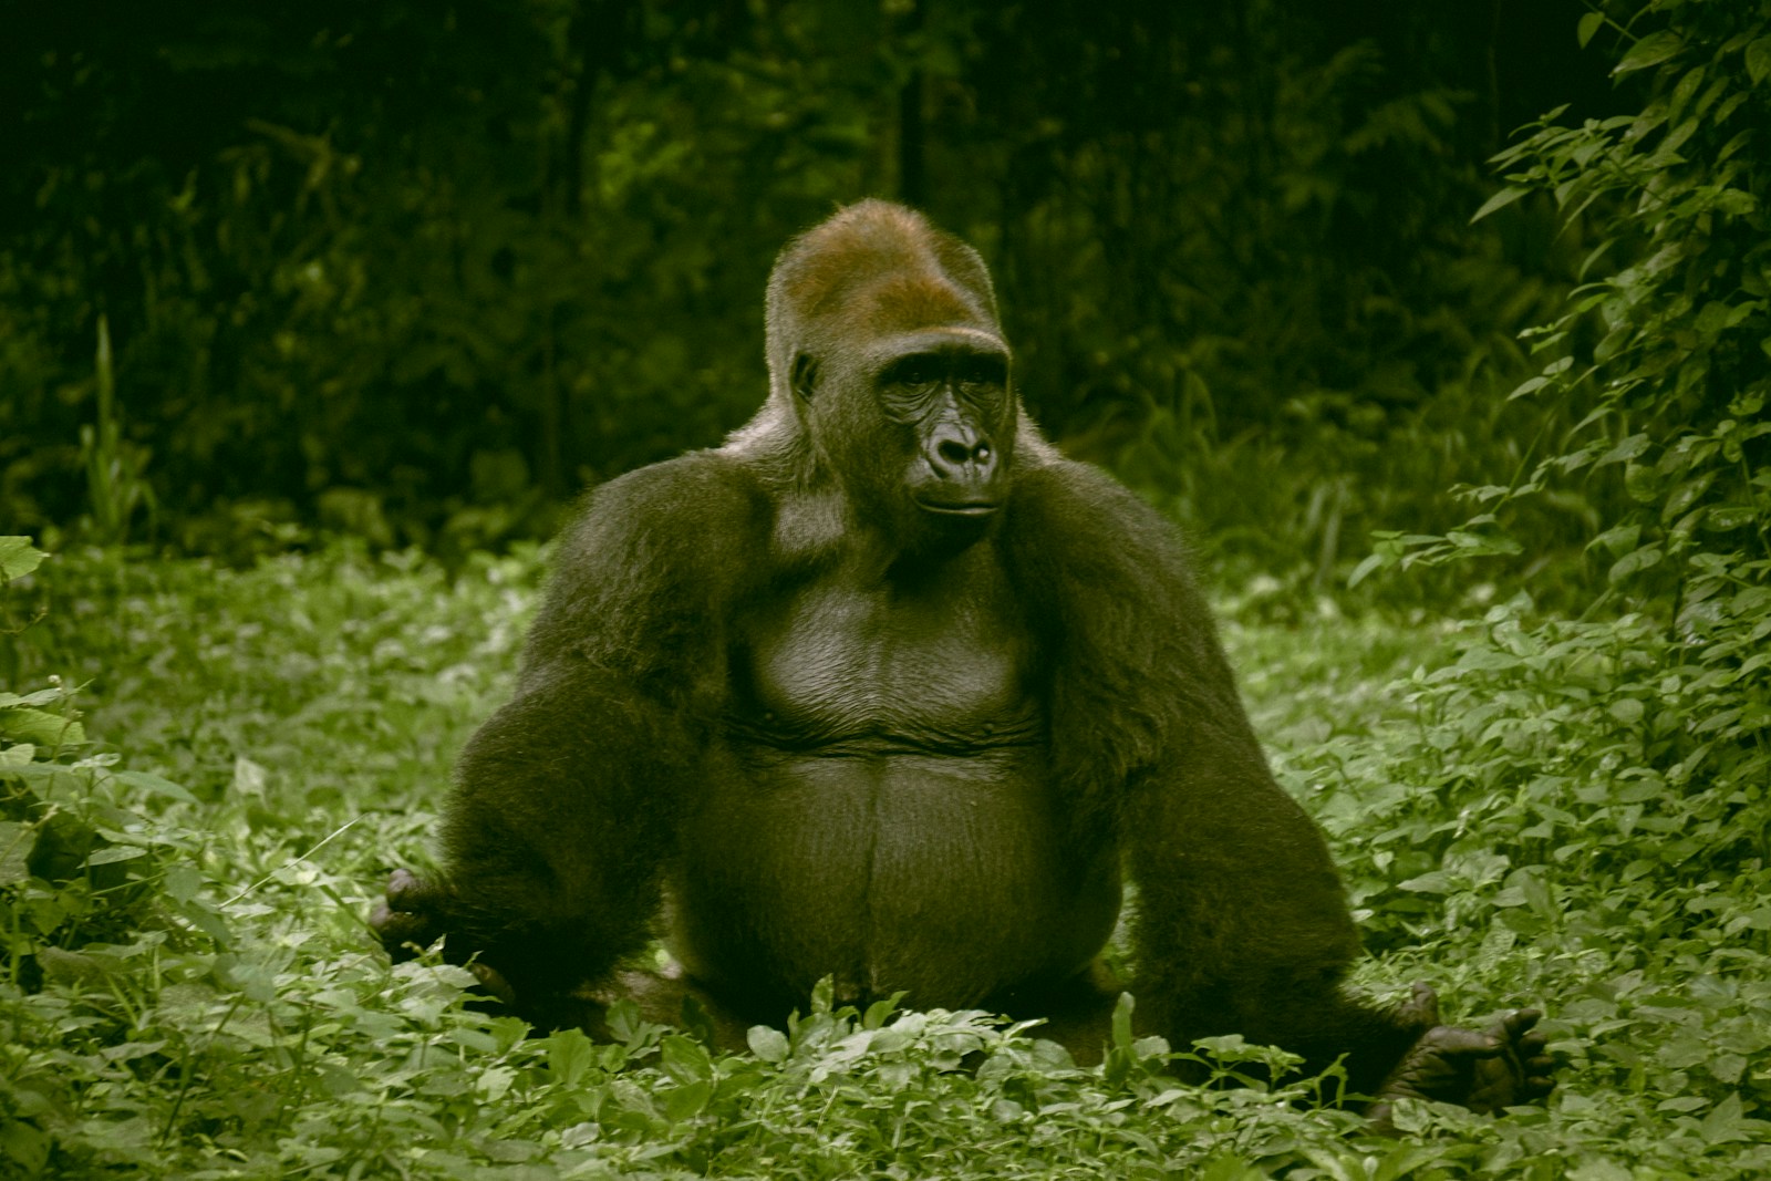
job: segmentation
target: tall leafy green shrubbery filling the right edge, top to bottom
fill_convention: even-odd
[[[1330,829],[1358,834],[1350,876],[1380,946],[1429,960],[1479,942],[1477,970],[1512,958],[1521,992],[1567,999],[1562,1048],[1617,1096],[1571,1133],[1628,1140],[1658,1119],[1647,1167],[1755,1174],[1771,1160],[1771,5],[1619,11],[1580,35],[1610,30],[1617,74],[1652,76],[1642,113],[1562,127],[1553,112],[1500,156],[1509,188],[1479,212],[1543,189],[1599,232],[1587,269],[1608,273],[1530,333],[1546,363],[1512,395],[1576,428],[1528,476],[1466,489],[1484,512],[1463,529],[1380,535],[1360,574],[1520,552],[1537,542],[1521,510],[1573,494],[1597,510],[1594,593],[1628,613],[1496,607],[1456,660],[1415,673],[1406,728],[1302,774]]]

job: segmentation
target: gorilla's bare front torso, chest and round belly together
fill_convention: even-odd
[[[845,999],[963,1007],[1100,949],[1114,861],[1068,841],[1036,648],[988,577],[831,579],[742,630],[671,882],[691,974],[758,1011],[822,976]]]

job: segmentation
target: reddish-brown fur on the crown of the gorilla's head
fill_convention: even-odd
[[[926,328],[1002,343],[978,251],[893,202],[862,200],[786,244],[769,276],[769,393],[788,400],[793,361],[824,365]]]

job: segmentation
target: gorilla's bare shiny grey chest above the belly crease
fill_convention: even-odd
[[[733,660],[740,724],[795,751],[963,754],[1038,740],[1032,646],[988,581],[829,581],[756,618]]]

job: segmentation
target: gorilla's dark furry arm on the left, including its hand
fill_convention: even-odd
[[[448,958],[476,954],[528,1015],[572,1020],[551,1006],[645,944],[763,519],[749,482],[708,455],[592,498],[561,542],[514,699],[457,763],[443,873],[397,871],[372,919],[395,956],[448,935]]]

